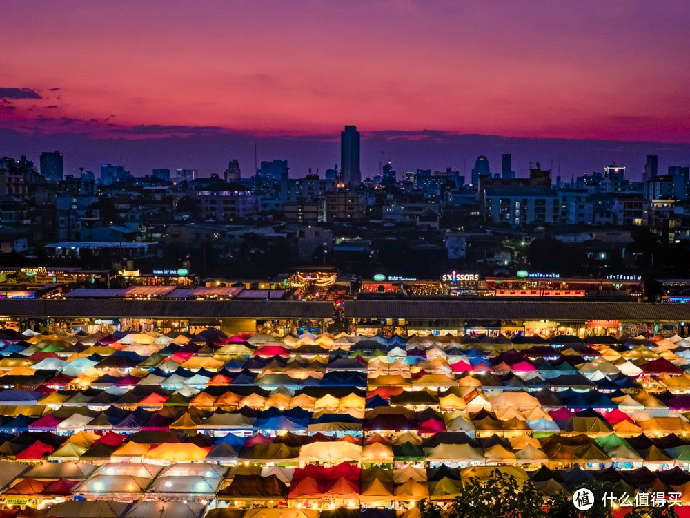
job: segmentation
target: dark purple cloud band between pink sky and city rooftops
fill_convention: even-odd
[[[342,128],[341,128],[342,129]],[[366,131],[362,133],[362,180],[380,172],[381,165],[391,160],[393,169],[402,178],[405,171],[431,169],[444,171],[451,167],[470,182],[471,171],[479,155],[489,158],[491,172],[500,174],[502,155],[512,155],[512,169],[517,178],[526,178],[529,164],[539,161],[553,176],[563,180],[593,171],[603,172],[604,166],[627,166],[631,180],[640,181],[646,157],[658,155],[659,174],[669,166],[690,164],[690,144],[661,142],[616,142],[573,139],[522,139],[496,135],[454,135],[440,131]],[[252,175],[257,149],[257,166],[264,160],[288,160],[290,178],[302,178],[311,168],[324,177],[326,169],[341,167],[339,132],[312,137],[255,137],[249,133],[230,133],[220,128],[199,128],[175,137],[156,133],[136,139],[124,137],[95,138],[83,133],[26,135],[0,128],[3,155],[39,163],[43,151],[59,149],[64,155],[64,174],[79,175],[79,168],[98,174],[101,164],[124,166],[132,175],[152,174],[153,169],[197,169],[199,176],[218,174],[224,177],[228,160],[237,159],[242,176]]]

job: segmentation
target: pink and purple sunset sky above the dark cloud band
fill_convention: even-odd
[[[0,127],[690,142],[687,1],[8,1]],[[23,98],[22,98],[23,97]]]

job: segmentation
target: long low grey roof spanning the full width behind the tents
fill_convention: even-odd
[[[0,316],[35,318],[331,318],[333,303],[288,300],[0,300]],[[687,320],[690,305],[533,300],[346,300],[346,318]]]

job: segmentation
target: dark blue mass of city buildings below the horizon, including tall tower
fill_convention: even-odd
[[[627,249],[636,229],[662,244],[690,243],[690,168],[660,174],[657,155],[635,167],[642,176],[635,182],[630,164],[564,181],[540,162],[516,167],[510,153],[500,173],[486,155],[468,173],[396,171],[383,157],[365,173],[356,126],[345,126],[340,152],[339,164],[322,174],[296,174],[278,158],[243,175],[248,168],[232,158],[208,178],[187,167],[141,175],[110,163],[97,174],[65,174],[60,151],[41,153],[39,168],[26,157],[3,157],[0,253],[100,266],[194,256],[209,271],[244,258],[264,269],[276,258],[366,269],[416,257],[430,271],[479,264],[493,274],[514,273],[529,243],[550,236],[578,243],[601,274],[638,267]],[[126,246],[132,243],[146,246]]]

